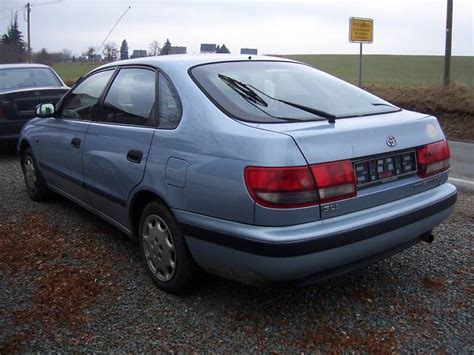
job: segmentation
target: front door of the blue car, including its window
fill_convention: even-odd
[[[50,185],[87,202],[82,187],[82,151],[90,120],[114,70],[94,73],[64,98],[54,118],[45,120],[35,137],[40,168]]]

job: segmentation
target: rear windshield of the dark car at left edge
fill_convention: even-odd
[[[62,86],[49,68],[0,69],[0,92],[44,86]]]

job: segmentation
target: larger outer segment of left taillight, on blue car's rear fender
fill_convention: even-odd
[[[318,203],[318,194],[307,166],[245,168],[245,184],[252,198],[266,207],[295,208]]]

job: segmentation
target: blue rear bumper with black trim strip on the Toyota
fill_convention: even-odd
[[[203,269],[252,284],[308,283],[416,244],[449,216],[456,197],[456,188],[443,184],[382,206],[288,227],[174,213]]]

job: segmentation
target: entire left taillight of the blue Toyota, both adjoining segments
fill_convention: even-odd
[[[266,207],[305,207],[357,194],[350,160],[298,167],[247,167],[244,175],[250,196]]]

